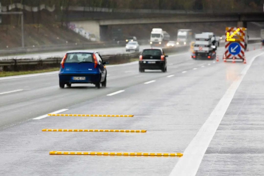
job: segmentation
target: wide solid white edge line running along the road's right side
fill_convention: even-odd
[[[208,119],[205,121],[204,125],[198,131],[194,139],[190,142],[188,147],[183,152],[183,156],[178,160],[175,167],[173,168],[169,176],[195,176],[204,154],[214,137],[214,134],[222,121],[230,102],[232,101],[235,92],[237,91],[240,83],[242,82],[244,76],[246,75],[248,69],[252,65],[252,62],[260,55],[258,54],[251,59],[250,63],[243,69],[241,75],[236,79],[232,85],[225,92],[224,96],[221,98],[219,103],[214,108],[213,112],[210,114]],[[191,169],[190,169],[191,168]]]

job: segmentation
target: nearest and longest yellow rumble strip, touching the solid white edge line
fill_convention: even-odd
[[[50,155],[130,155],[130,156],[182,156],[183,153],[101,152],[101,151],[50,151]]]

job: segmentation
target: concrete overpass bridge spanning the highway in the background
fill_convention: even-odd
[[[149,18],[130,18],[130,19],[101,19],[74,21],[76,26],[83,27],[100,40],[107,38],[108,26],[110,25],[133,25],[150,23],[195,23],[195,22],[237,22],[237,27],[247,27],[247,22],[264,22],[263,12],[250,13],[190,13],[174,14],[170,17],[149,17]]]

